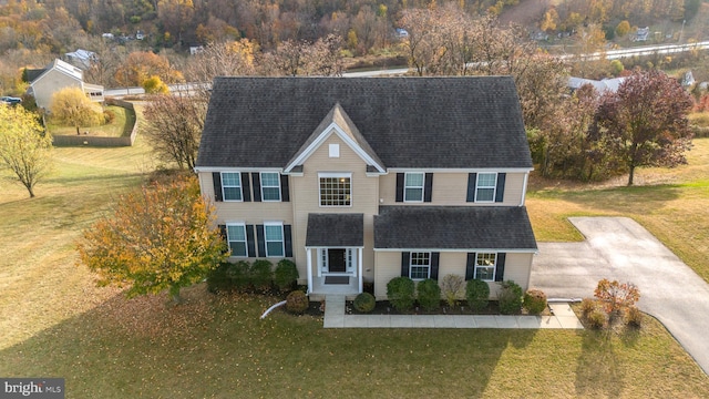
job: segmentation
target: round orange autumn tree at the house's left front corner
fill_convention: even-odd
[[[202,282],[227,257],[214,207],[192,176],[121,196],[113,217],[84,231],[78,249],[100,286],[125,287],[129,297],[167,289],[176,303],[181,288]]]

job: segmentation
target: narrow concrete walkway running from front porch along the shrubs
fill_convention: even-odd
[[[554,316],[346,315],[345,296],[325,304],[325,328],[584,328],[568,304],[549,304]]]

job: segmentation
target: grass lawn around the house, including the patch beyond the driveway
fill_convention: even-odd
[[[698,143],[692,155],[703,154],[701,165],[648,172],[669,180],[657,187],[569,191],[537,182],[535,232],[578,239],[564,215],[629,212],[670,221],[660,237],[670,246],[684,231],[701,234],[708,216],[696,213],[706,214],[707,184],[698,176],[708,149],[709,141]],[[133,147],[54,155],[56,172],[35,198],[0,181],[0,376],[64,377],[68,398],[709,397],[709,378],[653,320],[610,336],[326,330],[320,319],[279,311],[259,320],[276,299],[213,296],[203,285],[177,307],[164,295],[127,300],[75,266],[74,243],[155,167],[150,149],[138,136]]]

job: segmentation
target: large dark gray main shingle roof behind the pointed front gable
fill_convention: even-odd
[[[197,166],[284,167],[337,103],[387,167],[532,167],[510,76],[217,78]]]

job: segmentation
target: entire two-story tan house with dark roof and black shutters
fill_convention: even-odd
[[[232,258],[291,258],[311,294],[373,282],[384,299],[402,275],[528,286],[511,78],[217,78],[195,170]]]

